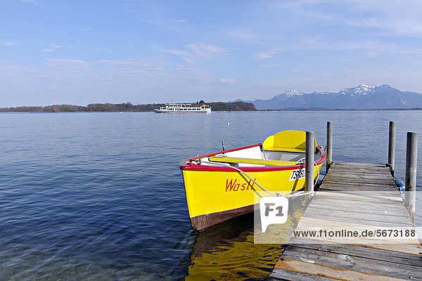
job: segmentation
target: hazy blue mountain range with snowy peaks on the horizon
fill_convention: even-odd
[[[238,101],[238,100],[236,100]],[[362,84],[338,93],[304,93],[290,90],[269,100],[241,100],[252,102],[257,110],[286,109],[406,109],[422,107],[422,93],[399,91],[388,85]]]

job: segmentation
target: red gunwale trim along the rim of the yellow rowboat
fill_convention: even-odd
[[[231,169],[230,167],[224,167],[224,166],[205,166],[201,164],[191,163],[192,161],[195,161],[196,159],[205,158],[205,157],[211,157],[215,155],[219,155],[226,152],[232,152],[236,150],[243,150],[246,148],[255,148],[257,146],[262,146],[262,143],[258,143],[257,145],[249,145],[245,146],[244,148],[235,148],[233,150],[223,150],[220,152],[212,153],[209,155],[203,155],[203,156],[197,156],[185,160],[181,160],[179,162],[179,168],[184,171],[226,171],[226,172],[238,172],[234,169]],[[316,166],[319,166],[320,164],[323,164],[326,160],[326,152],[321,146],[316,146],[316,149],[321,152],[321,157],[315,161]],[[260,172],[260,171],[286,171],[286,170],[295,170],[295,169],[304,169],[305,163],[301,164],[295,164],[291,166],[239,166],[236,167],[240,169],[241,171],[245,172]]]

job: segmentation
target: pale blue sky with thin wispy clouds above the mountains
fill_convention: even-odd
[[[422,92],[422,1],[0,0],[0,107]]]

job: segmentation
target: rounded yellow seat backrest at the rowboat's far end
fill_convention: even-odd
[[[269,136],[262,144],[264,150],[305,152],[306,132],[304,131],[281,131],[274,136]],[[316,150],[316,141],[314,141]]]

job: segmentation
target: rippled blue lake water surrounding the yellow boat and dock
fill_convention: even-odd
[[[335,161],[385,163],[390,120],[404,181],[422,111],[0,114],[0,280],[264,280],[283,245],[253,244],[248,215],[193,230],[179,161],[285,129],[324,147],[333,121]]]

